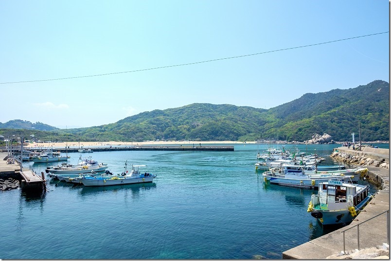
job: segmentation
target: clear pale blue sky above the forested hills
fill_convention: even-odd
[[[388,32],[388,0],[15,0],[0,1],[0,24],[0,122],[89,127],[193,103],[269,109],[390,77],[389,33],[270,52]]]

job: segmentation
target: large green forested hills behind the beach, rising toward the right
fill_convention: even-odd
[[[358,133],[359,124],[362,140],[389,140],[389,118],[390,85],[377,80],[356,88],[307,93],[268,110],[230,104],[153,110],[107,125],[68,129],[68,140],[303,141],[327,133],[336,141],[345,141],[351,139],[351,133]],[[0,129],[0,134],[4,131]],[[38,137],[65,140],[65,130],[39,132]]]

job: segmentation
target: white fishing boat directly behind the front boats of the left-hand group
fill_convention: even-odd
[[[81,160],[81,157],[79,158]],[[61,164],[61,166],[47,167],[45,172],[51,177],[55,176],[69,176],[70,174],[83,174],[94,171],[96,173],[104,172],[107,169],[107,163],[98,163],[91,157],[78,162],[76,166],[71,164]]]

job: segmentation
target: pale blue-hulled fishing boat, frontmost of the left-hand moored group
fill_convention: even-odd
[[[134,183],[152,182],[156,177],[156,174],[140,173],[139,168],[146,167],[145,165],[132,165],[132,170],[128,172],[126,170],[121,175],[116,175],[111,178],[107,177],[91,177],[83,176],[81,182],[84,186],[111,186],[111,185],[124,185]]]

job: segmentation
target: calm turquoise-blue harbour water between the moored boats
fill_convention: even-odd
[[[326,157],[325,164],[333,164],[334,147],[299,145]],[[50,180],[42,196],[2,191],[0,259],[281,259],[330,230],[306,211],[316,191],[264,183],[254,164],[266,148],[85,154],[114,173],[125,160],[145,164],[158,178],[104,188]],[[80,154],[69,156],[77,163]],[[40,173],[49,165],[24,167]]]

